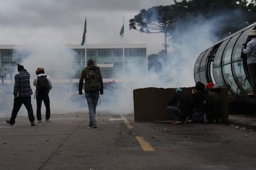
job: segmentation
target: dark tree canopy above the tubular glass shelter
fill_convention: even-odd
[[[164,51],[167,54],[167,39],[173,36],[173,30],[179,25],[198,17],[208,20],[220,15],[229,15],[219,18],[219,27],[215,30],[216,36],[221,39],[256,21],[255,1],[174,0],[174,4],[169,6],[140,10],[138,15],[129,20],[129,26],[130,30],[142,33],[164,33]]]

